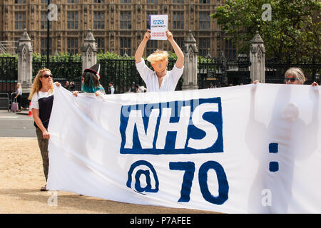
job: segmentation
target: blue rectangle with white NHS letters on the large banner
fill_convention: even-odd
[[[123,105],[119,130],[121,154],[224,152],[220,98]]]

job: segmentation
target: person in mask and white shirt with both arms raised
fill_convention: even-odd
[[[142,58],[146,43],[151,38],[151,30],[148,29],[145,33],[143,41],[141,41],[141,44],[138,46],[135,53],[136,68],[141,78],[143,78],[143,81],[146,83],[147,92],[174,91],[178,80],[183,74],[184,54],[175,42],[173,34],[170,31],[166,30],[166,36],[177,56],[175,66],[171,71],[166,70],[168,63],[167,51],[157,50],[148,56],[147,61],[151,62],[154,71],[146,66],[145,61]]]

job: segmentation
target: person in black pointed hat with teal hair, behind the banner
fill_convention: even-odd
[[[101,69],[101,65],[99,63],[91,66],[91,68],[87,68],[83,71],[82,77],[83,83],[81,91],[85,93],[95,93],[96,95],[106,94],[105,89],[101,86],[99,79],[101,76],[99,75],[99,71]],[[78,91],[73,91],[73,95],[78,96]]]

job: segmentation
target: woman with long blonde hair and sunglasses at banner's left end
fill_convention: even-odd
[[[61,84],[56,82],[56,86],[61,86]],[[49,170],[48,142],[50,138],[47,129],[54,101],[54,81],[49,69],[45,68],[38,71],[28,99],[31,100],[30,109],[34,117],[34,126],[36,127],[44,175],[47,181]],[[46,185],[41,187],[40,190],[46,191]]]

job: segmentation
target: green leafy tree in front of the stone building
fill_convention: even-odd
[[[263,4],[270,4],[272,19],[263,20]],[[320,59],[320,0],[227,0],[211,14],[230,36],[238,51],[248,53],[259,31],[266,56]]]

